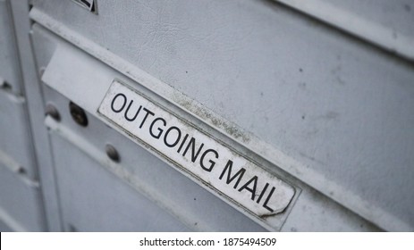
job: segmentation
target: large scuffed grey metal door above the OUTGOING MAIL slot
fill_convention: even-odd
[[[34,4],[413,227],[412,64],[267,1]]]

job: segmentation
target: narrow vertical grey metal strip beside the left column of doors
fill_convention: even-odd
[[[7,1],[12,7],[13,24],[16,46],[21,62],[21,80],[24,83],[25,100],[28,107],[30,132],[33,137],[35,164],[42,180],[41,195],[46,213],[46,229],[60,231],[63,229],[60,220],[60,207],[55,188],[55,171],[52,165],[52,155],[44,129],[45,106],[38,82],[39,69],[34,62],[34,52],[30,43],[30,25],[28,17],[29,1]],[[31,2],[31,1],[30,1]]]

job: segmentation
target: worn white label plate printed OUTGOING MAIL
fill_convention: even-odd
[[[258,217],[283,212],[295,195],[282,179],[117,79],[98,112],[204,187]]]

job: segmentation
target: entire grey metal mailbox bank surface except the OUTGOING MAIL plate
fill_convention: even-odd
[[[412,1],[95,2],[0,0],[0,230],[414,230]],[[287,209],[133,143],[97,114],[115,78],[295,187]]]

